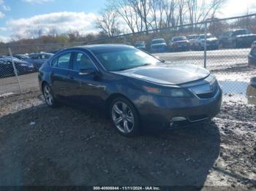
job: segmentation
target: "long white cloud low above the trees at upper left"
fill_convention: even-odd
[[[94,28],[97,15],[85,12],[53,12],[44,15],[35,15],[29,18],[7,21],[9,31],[14,31],[12,36],[23,38],[31,37],[40,31],[41,34],[49,34],[56,31],[58,34],[67,33],[70,30],[79,31],[80,34],[89,34],[96,31]]]

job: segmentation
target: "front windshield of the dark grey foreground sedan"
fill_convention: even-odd
[[[94,50],[94,55],[108,71],[122,71],[140,66],[156,65],[157,58],[137,49]]]

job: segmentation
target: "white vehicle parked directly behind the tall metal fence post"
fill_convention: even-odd
[[[206,43],[207,50],[219,49],[219,40],[215,36],[212,36],[211,34],[206,34],[206,36],[204,34],[200,34],[200,36],[198,36],[195,42],[196,44],[195,46],[197,50],[204,50],[205,43]]]

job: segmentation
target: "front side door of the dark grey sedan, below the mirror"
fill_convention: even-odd
[[[86,106],[101,106],[105,86],[101,77],[94,74],[80,74],[81,69],[92,69],[98,72],[97,66],[85,52],[73,52],[72,69],[69,71],[69,89],[72,101]]]

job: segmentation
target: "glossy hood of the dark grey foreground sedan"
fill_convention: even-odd
[[[204,79],[210,74],[208,70],[199,66],[171,63],[157,66],[142,66],[125,71],[113,71],[113,73],[162,85],[181,85],[198,79]]]

